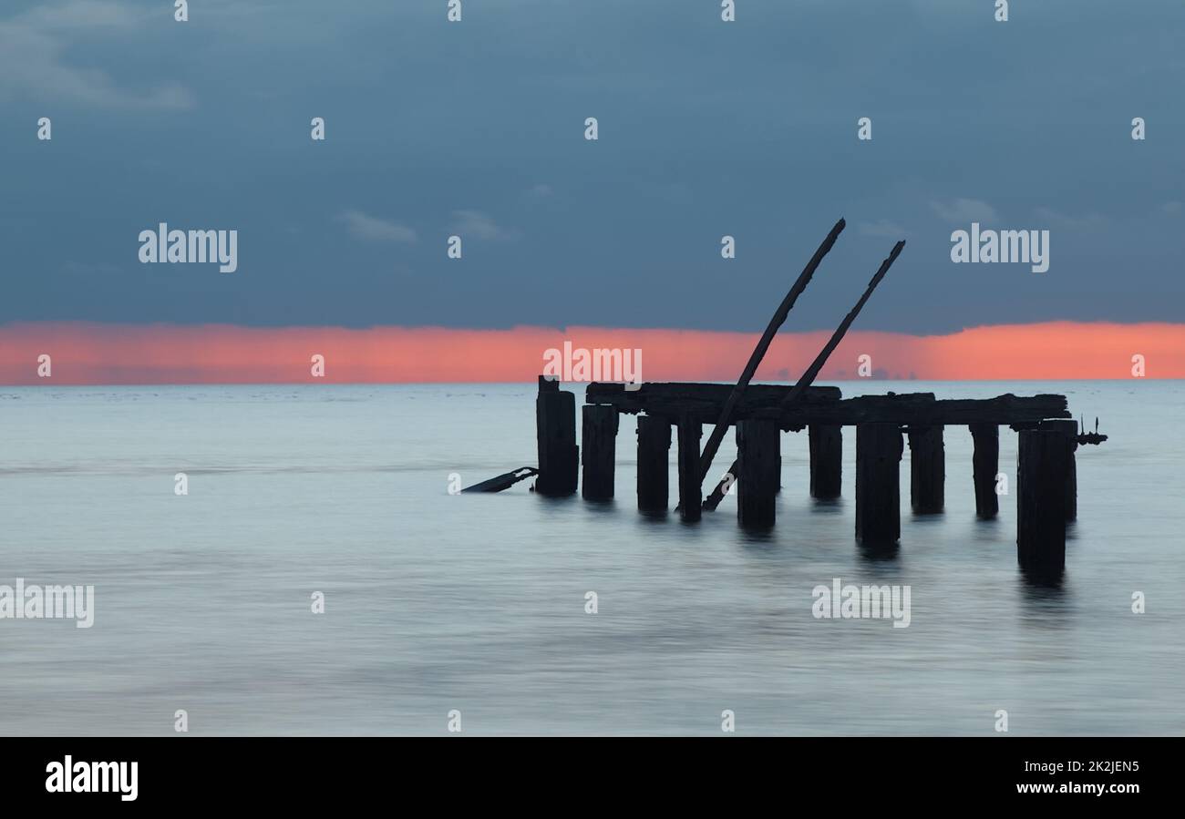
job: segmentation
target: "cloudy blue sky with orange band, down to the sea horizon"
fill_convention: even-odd
[[[197,328],[518,331],[526,372],[537,330],[751,335],[840,217],[786,324],[803,343],[897,239],[857,333],[1127,325],[1106,378],[1185,324],[1177,0],[1020,0],[1007,22],[993,0],[737,0],[735,22],[716,0],[462,0],[461,22],[447,5],[194,0],[178,22],[165,0],[4,4],[0,379],[23,382],[33,347],[134,357]],[[1048,230],[1049,270],[954,264],[972,221]],[[160,223],[237,231],[238,269],[141,264]],[[437,373],[483,337],[425,333]],[[902,344],[886,372],[937,372]],[[1149,374],[1185,374],[1176,349]],[[152,372],[185,380],[169,367],[194,355]]]

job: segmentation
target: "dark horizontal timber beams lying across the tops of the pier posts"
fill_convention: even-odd
[[[711,424],[719,418],[731,389],[724,383],[642,383],[639,389],[629,391],[620,383],[594,382],[588,386],[584,400],[587,404],[609,404],[630,414],[645,412],[675,418],[683,413]],[[998,424],[1024,428],[1050,418],[1070,418],[1064,395],[1008,393],[989,399],[936,400],[934,393],[889,393],[841,399],[837,387],[812,387],[801,402],[782,408],[781,401],[790,389],[793,387],[780,385],[750,385],[734,420],[773,419],[782,430],[801,430],[809,424]]]

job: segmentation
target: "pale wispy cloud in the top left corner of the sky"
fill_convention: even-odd
[[[122,2],[70,0],[0,21],[0,97],[27,96],[107,109],[193,108],[193,95],[177,83],[124,89],[105,71],[73,65],[66,58],[76,41],[130,32],[143,19],[143,13]]]

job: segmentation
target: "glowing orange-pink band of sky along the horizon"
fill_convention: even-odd
[[[830,333],[781,333],[758,380],[792,381]],[[640,349],[645,381],[731,381],[756,344],[755,333],[569,327],[508,330],[225,324],[15,323],[0,327],[0,383],[414,383],[533,382],[544,352]],[[38,356],[52,378],[38,378]],[[325,356],[325,378],[310,356]],[[820,381],[854,379],[872,356],[882,378],[920,380],[1129,379],[1142,355],[1151,379],[1185,378],[1185,324],[1046,322],[976,327],[949,335],[851,331]],[[609,379],[606,379],[609,380]]]

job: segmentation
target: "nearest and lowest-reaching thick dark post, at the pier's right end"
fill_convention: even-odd
[[[1026,572],[1057,578],[1065,568],[1064,432],[1023,430],[1017,451],[1017,560]]]

